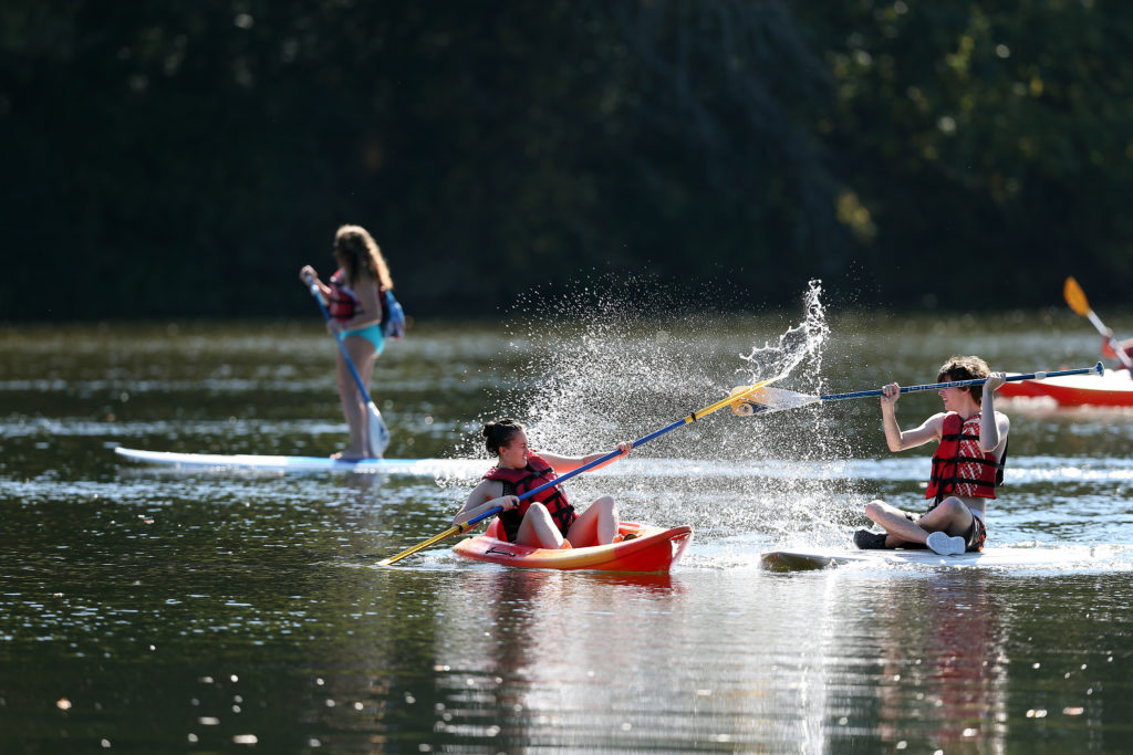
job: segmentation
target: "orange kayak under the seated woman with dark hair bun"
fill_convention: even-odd
[[[457,544],[458,556],[528,569],[597,569],[600,572],[668,572],[692,539],[692,527],[665,530],[648,524],[622,522],[622,535],[631,540],[608,546],[552,550],[508,542],[500,520],[492,520],[487,532]]]

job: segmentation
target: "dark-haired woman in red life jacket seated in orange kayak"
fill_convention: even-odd
[[[533,497],[520,500],[528,490],[554,480],[557,472],[566,473],[605,456],[560,456],[536,453],[527,445],[527,429],[518,421],[504,418],[484,426],[484,446],[496,456],[496,465],[468,495],[453,524],[461,524],[497,506],[509,542],[536,548],[571,548],[573,546],[604,546],[621,539],[614,499],[603,496],[579,514],[566,500],[560,486],[552,486]],[[624,458],[633,448],[632,441],[617,444],[620,456],[593,469]]]

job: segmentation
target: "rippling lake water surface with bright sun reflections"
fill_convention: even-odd
[[[566,483],[690,524],[665,576],[511,570],[446,529],[512,413],[535,445],[607,451],[752,379],[799,317],[425,324],[373,393],[389,455],[432,475],[146,467],[113,448],[325,455],[344,424],[317,323],[0,329],[5,752],[1121,752],[1133,748],[1133,414],[1002,404],[989,544],[1025,569],[841,567],[862,506],[922,506],[931,449],[889,454],[876,400],[681,428]],[[1125,323],[1111,323],[1118,329]],[[953,353],[1097,361],[1068,312],[845,316],[781,385],[934,381]],[[972,335],[974,334],[974,335]],[[758,360],[757,360],[758,361]],[[902,398],[909,426],[938,411]],[[468,461],[477,458],[477,461]]]

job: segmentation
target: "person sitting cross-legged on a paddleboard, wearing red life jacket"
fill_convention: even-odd
[[[937,376],[938,383],[987,378],[981,386],[942,388],[944,411],[912,430],[897,426],[896,405],[901,388],[896,383],[883,388],[881,421],[885,441],[892,452],[938,440],[932,455],[932,477],[927,498],[928,512],[919,517],[884,500],[866,506],[866,516],[885,532],[859,530],[859,548],[925,548],[942,556],[978,551],[987,539],[985,505],[1003,483],[1011,421],[995,411],[994,395],[1004,383],[1003,372],[991,372],[979,357],[953,357]]]

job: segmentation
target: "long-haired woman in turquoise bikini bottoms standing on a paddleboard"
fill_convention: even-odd
[[[313,280],[322,293],[323,302],[330,311],[326,329],[331,335],[340,334],[350,361],[361,377],[363,385],[369,386],[374,375],[374,362],[385,348],[382,334],[382,306],[384,293],[393,289],[393,278],[385,264],[385,257],[377,242],[360,225],[343,225],[334,234],[334,261],[339,269],[330,283],[323,283],[310,265],[299,271],[299,278],[306,283]],[[369,422],[366,400],[363,397],[350,367],[338,353],[339,396],[342,413],[350,428],[350,440],[346,451],[331,458],[358,461],[368,456]]]

